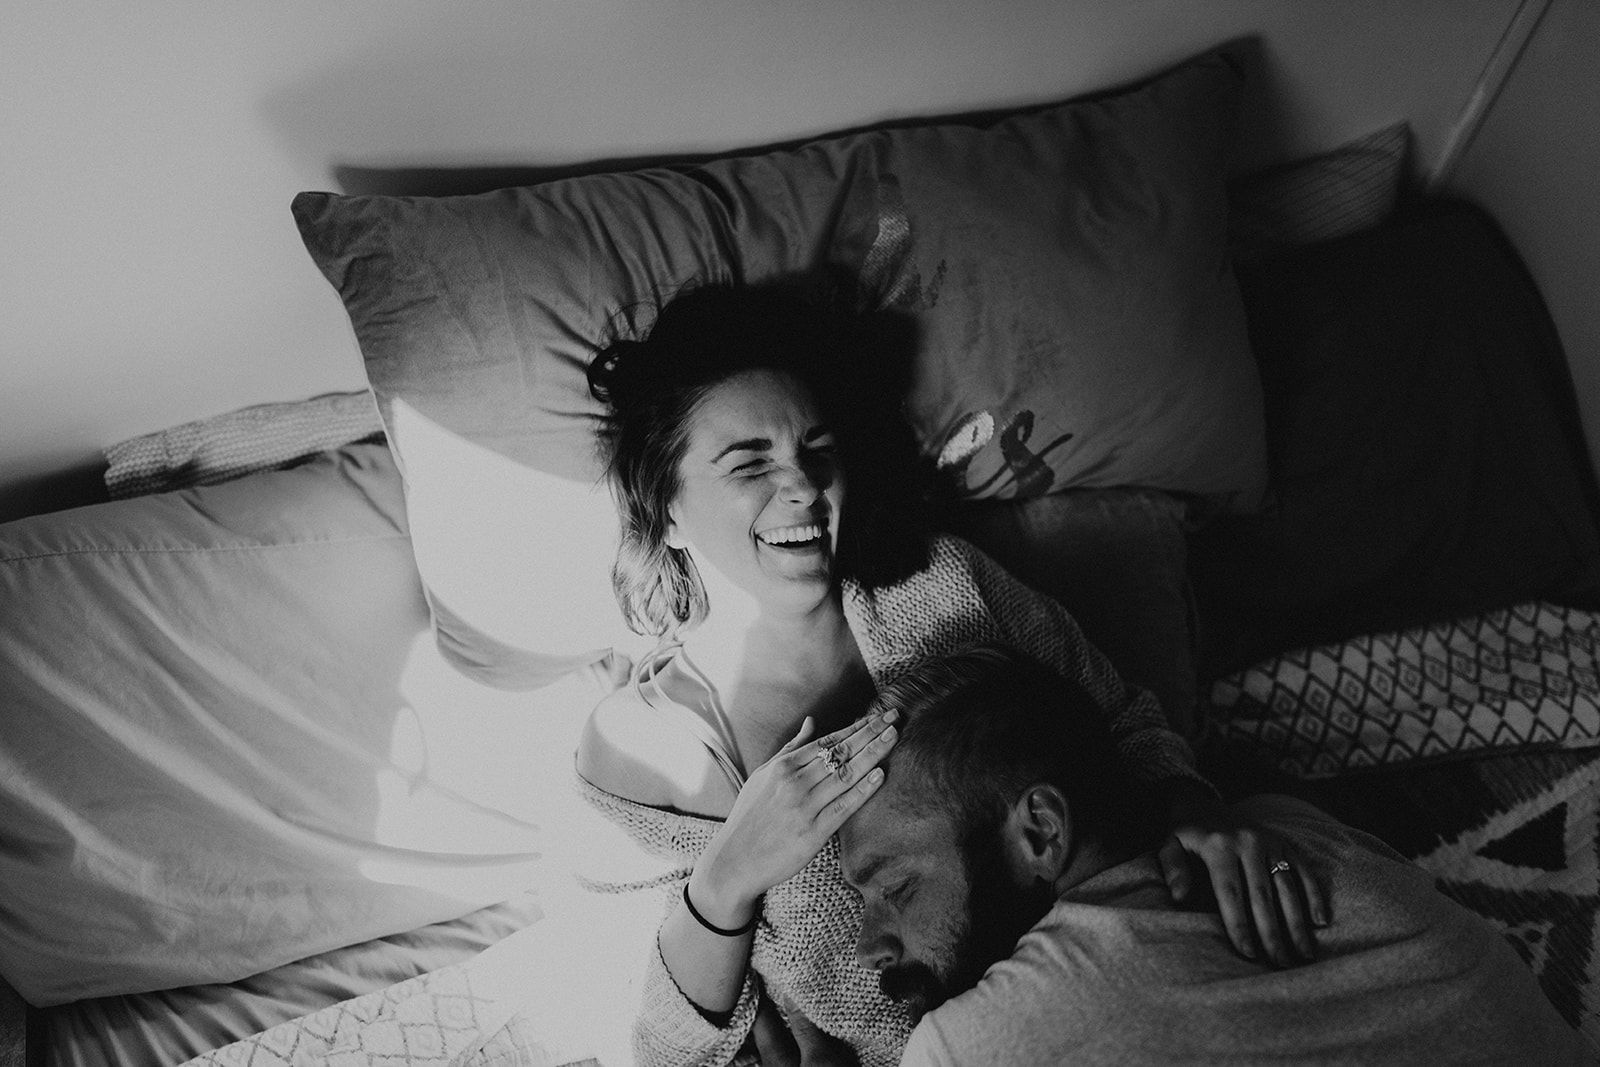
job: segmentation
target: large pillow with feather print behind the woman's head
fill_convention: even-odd
[[[955,498],[1251,501],[1259,382],[1226,250],[1240,75],[462,197],[301,194],[406,480],[442,646],[536,686],[629,646],[584,366],[698,280],[830,267],[915,318],[909,413]]]

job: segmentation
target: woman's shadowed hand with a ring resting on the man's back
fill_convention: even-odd
[[[1240,955],[1261,952],[1277,966],[1315,958],[1314,926],[1330,921],[1323,880],[1290,838],[1234,814],[1197,785],[1173,800],[1173,835],[1160,849],[1162,872],[1178,902],[1195,893],[1192,861],[1211,875],[1222,928]]]

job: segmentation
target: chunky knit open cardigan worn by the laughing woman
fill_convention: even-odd
[[[1194,777],[1192,753],[1166,726],[1155,699],[1123,685],[1061,605],[1027,589],[965,541],[938,537],[928,566],[912,577],[877,590],[846,582],[843,593],[850,629],[877,686],[923,659],[1005,640],[1082,683],[1107,710],[1118,750],[1142,776]],[[664,904],[670,905],[722,825],[637,805],[582,779],[579,792],[658,861],[653,877],[597,889],[664,889]],[[840,873],[837,840],[829,841],[798,875],[766,894],[750,968],[726,1025],[710,1024],[678,990],[659,949],[651,953],[635,1029],[638,1065],[733,1062],[763,989],[850,1043],[861,1067],[898,1064],[910,1021],[902,1006],[883,997],[877,976],[856,961],[859,929],[861,899]]]

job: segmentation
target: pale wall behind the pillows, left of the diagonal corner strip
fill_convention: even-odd
[[[1408,117],[1426,162],[1515,6],[5,0],[0,518],[125,437],[363,386],[288,213],[336,163],[730,149],[1054,99],[1253,32],[1246,158]]]

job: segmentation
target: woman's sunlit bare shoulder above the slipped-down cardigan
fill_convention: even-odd
[[[578,737],[576,766],[584,781],[651,808],[704,808],[712,763],[698,737],[650,707],[632,686],[600,701]]]

